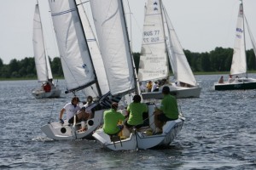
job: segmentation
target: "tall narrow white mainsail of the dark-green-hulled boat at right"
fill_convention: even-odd
[[[240,4],[238,11],[238,18],[236,24],[236,37],[234,45],[234,54],[232,59],[232,65],[230,74],[244,74],[247,72],[247,61],[246,61],[246,48],[245,48],[245,37],[244,37],[244,20],[243,20],[243,8],[242,3]]]

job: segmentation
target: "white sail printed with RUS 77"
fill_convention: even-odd
[[[143,42],[138,70],[139,81],[168,77],[162,8],[159,0],[148,0],[143,25]]]

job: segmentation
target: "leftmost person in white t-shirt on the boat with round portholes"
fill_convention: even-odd
[[[62,119],[62,116],[64,114],[64,112],[67,112],[67,121],[68,123],[73,123],[73,117],[76,115],[76,113],[80,110],[79,107],[79,98],[78,97],[73,97],[73,99],[71,100],[71,102],[67,103],[60,112],[60,122],[63,124],[64,121]]]

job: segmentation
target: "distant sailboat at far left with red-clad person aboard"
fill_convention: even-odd
[[[33,48],[38,74],[38,82],[43,82],[43,85],[40,88],[32,89],[32,95],[36,99],[58,98],[61,95],[61,89],[58,87],[58,85],[54,85],[49,65],[49,57],[47,56],[44,47],[43,27],[39,7],[38,4],[36,4],[33,19]],[[47,89],[47,87],[49,88]]]

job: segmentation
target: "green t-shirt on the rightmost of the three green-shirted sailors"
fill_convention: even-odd
[[[164,98],[161,101],[160,111],[163,111],[164,114],[170,119],[178,118],[177,110],[177,100],[170,94],[164,95]]]

